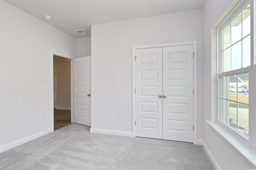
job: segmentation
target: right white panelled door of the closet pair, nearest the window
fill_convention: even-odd
[[[193,45],[163,47],[163,139],[193,142]]]

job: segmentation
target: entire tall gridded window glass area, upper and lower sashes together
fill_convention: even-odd
[[[249,74],[251,64],[250,3],[219,27],[218,120],[249,139]],[[253,114],[253,113],[252,113]]]

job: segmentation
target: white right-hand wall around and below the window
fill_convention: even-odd
[[[238,2],[239,0],[236,0]],[[214,31],[211,28],[222,16],[225,10],[232,4],[233,0],[206,0],[203,7],[203,142],[209,149],[210,154],[216,161],[219,168],[229,169],[250,169],[254,166],[242,156],[230,143],[228,143],[219,133],[217,133],[206,120],[216,119],[217,112],[216,96],[216,58],[211,56],[211,35]],[[234,4],[234,3],[233,3]],[[216,10],[218,9],[218,10]],[[214,44],[213,44],[214,45]],[[214,51],[213,51],[214,52]],[[209,90],[210,89],[210,90]],[[206,127],[208,130],[206,131]],[[233,166],[229,163],[229,152],[233,153]]]

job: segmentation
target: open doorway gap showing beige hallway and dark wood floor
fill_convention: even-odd
[[[71,61],[53,55],[54,131],[71,124]]]

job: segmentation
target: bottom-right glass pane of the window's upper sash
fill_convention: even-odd
[[[243,67],[251,65],[251,36],[243,39]]]

